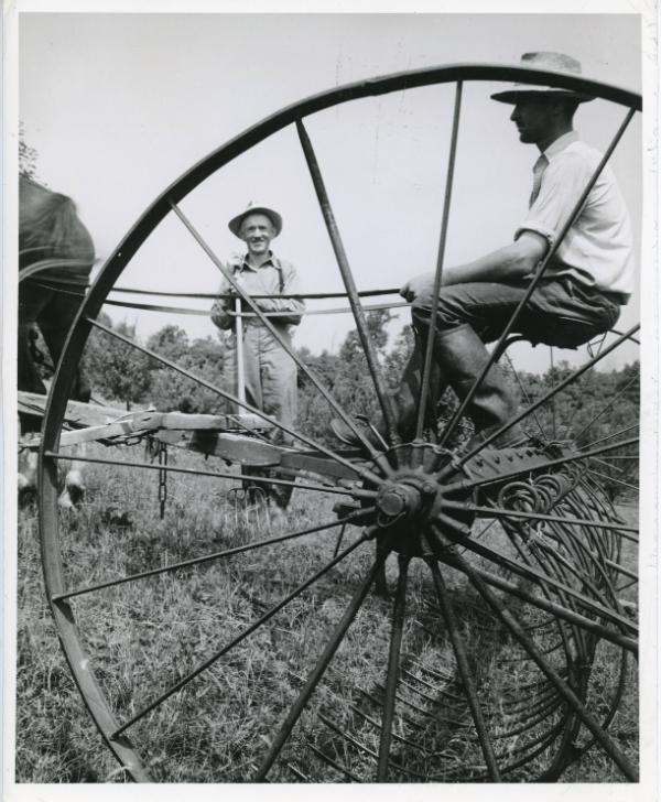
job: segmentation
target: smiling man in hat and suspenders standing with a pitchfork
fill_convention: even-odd
[[[291,329],[301,323],[305,304],[297,297],[296,271],[290,262],[279,259],[270,249],[271,241],[282,231],[282,217],[267,206],[249,204],[247,209],[229,221],[229,230],[246,242],[248,252],[230,260],[227,269],[257,306],[269,316],[280,336],[291,345]],[[224,369],[228,389],[238,393],[236,348],[236,292],[223,280],[219,297],[212,308],[212,321],[218,328],[231,329],[231,345]],[[234,297],[232,297],[234,295]],[[266,297],[264,297],[266,296]],[[242,312],[250,313],[246,306]],[[289,427],[296,418],[296,365],[273,335],[254,315],[242,318],[242,344],[246,398],[271,418]],[[275,429],[273,440],[284,445],[291,435]],[[292,488],[271,486],[269,495],[280,507],[286,507]]]

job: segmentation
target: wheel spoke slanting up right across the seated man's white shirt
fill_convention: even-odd
[[[621,122],[619,129],[617,130],[615,137],[613,138],[610,144],[608,145],[606,152],[604,153],[604,156],[602,158],[599,164],[597,165],[596,170],[594,171],[593,175],[590,176],[589,181],[587,182],[587,185],[586,185],[585,189],[581,194],[581,197],[576,202],[576,204],[575,204],[574,208],[572,209],[572,212],[571,212],[567,220],[562,226],[562,228],[561,228],[557,237],[555,238],[553,245],[549,248],[549,250],[546,251],[545,257],[542,259],[540,265],[537,268],[537,270],[534,272],[534,277],[533,277],[533,279],[530,282],[530,285],[528,286],[528,290],[525,291],[525,294],[523,295],[523,297],[519,302],[517,308],[512,313],[512,316],[510,317],[507,326],[505,327],[502,334],[500,335],[500,338],[498,339],[498,343],[496,344],[496,347],[494,348],[494,350],[489,355],[489,358],[487,359],[487,362],[485,364],[485,367],[483,368],[480,375],[477,377],[477,379],[475,380],[473,387],[468,391],[467,395],[458,404],[458,407],[455,410],[452,419],[448,421],[447,425],[445,426],[445,430],[444,430],[444,432],[443,432],[443,434],[441,436],[440,443],[438,443],[440,446],[444,446],[446,444],[448,437],[454,432],[454,430],[455,430],[455,427],[456,427],[459,419],[462,418],[462,415],[466,411],[468,404],[473,401],[473,399],[475,397],[475,393],[477,391],[477,388],[484,381],[484,379],[485,379],[486,375],[488,373],[489,369],[491,368],[491,366],[500,358],[500,356],[502,354],[503,345],[505,345],[507,338],[509,337],[509,335],[510,335],[510,333],[511,333],[514,324],[519,319],[519,317],[521,315],[521,312],[523,311],[523,307],[525,306],[525,304],[530,300],[530,297],[531,297],[532,293],[534,292],[534,289],[537,288],[537,285],[540,283],[540,281],[544,277],[544,274],[546,272],[546,269],[551,264],[551,262],[553,260],[553,257],[556,254],[557,249],[562,245],[565,236],[567,235],[567,232],[570,230],[570,228],[574,224],[574,220],[581,214],[581,210],[583,209],[583,205],[587,201],[587,197],[588,197],[589,193],[592,192],[592,188],[594,187],[595,183],[597,182],[597,178],[602,174],[602,171],[606,166],[606,163],[608,162],[608,160],[613,155],[613,152],[614,152],[617,143],[620,141],[622,134],[625,133],[625,131],[626,131],[626,129],[627,129],[627,127],[628,127],[629,122],[631,121],[631,118],[633,117],[635,113],[636,113],[636,109],[630,108],[628,110],[628,112],[627,112],[624,121]],[[510,424],[510,425],[513,425],[513,424]],[[494,436],[497,436],[497,435],[494,435]],[[479,451],[481,451],[481,448],[484,448],[484,447],[485,447],[485,444],[483,443]]]

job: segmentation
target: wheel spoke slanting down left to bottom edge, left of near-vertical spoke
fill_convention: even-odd
[[[370,535],[365,534],[358,543],[364,542],[367,540]],[[345,554],[348,554],[348,552],[354,546],[349,546],[343,552],[343,556]],[[269,773],[270,768],[273,766],[275,759],[280,755],[280,751],[282,750],[282,747],[284,746],[285,740],[289,738],[290,733],[294,728],[294,725],[299,720],[301,713],[303,713],[303,709],[305,705],[307,704],[307,701],[312,696],[315,687],[319,683],[321,679],[326,672],[326,669],[328,668],[328,663],[333,659],[335,652],[337,651],[339,644],[344,640],[345,635],[347,633],[348,628],[351,626],[351,622],[354,621],[354,618],[356,618],[356,614],[360,609],[362,603],[365,602],[365,597],[369,593],[369,588],[372,586],[375,577],[377,576],[378,571],[380,570],[381,565],[386,562],[386,557],[388,556],[388,553],[386,551],[381,552],[377,555],[377,559],[375,560],[367,577],[362,582],[361,585],[358,586],[356,589],[354,597],[351,598],[348,607],[346,608],[343,617],[338,621],[338,624],[335,627],[335,630],[333,631],[333,635],[330,636],[330,639],[328,640],[328,643],[326,644],[326,648],[319,655],[319,659],[317,660],[317,663],[313,671],[310,673],[307,678],[307,682],[305,683],[305,686],[299,694],[299,697],[292,705],[284,723],[282,724],[280,730],[275,735],[275,738],[273,739],[271,747],[264,757],[261,766],[259,767],[259,771],[256,774],[254,781],[261,782],[264,780],[267,774]]]

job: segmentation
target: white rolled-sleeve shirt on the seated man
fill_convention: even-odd
[[[578,141],[576,131],[556,139],[535,163],[538,173],[544,166],[539,194],[534,197],[533,191],[528,217],[514,239],[523,231],[535,231],[553,245],[600,160],[598,151]],[[633,289],[633,271],[629,214],[606,165],[545,274],[570,274],[598,290],[628,296]]]

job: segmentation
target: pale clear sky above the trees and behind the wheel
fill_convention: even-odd
[[[517,63],[534,50],[570,53],[587,77],[640,90],[639,24],[633,14],[23,13],[20,118],[39,151],[39,177],[76,201],[105,259],[174,178],[285,105],[361,78],[457,62]],[[489,99],[501,87],[465,87],[447,263],[506,245],[525,214],[538,153],[518,141],[511,107]],[[435,263],[453,93],[451,85],[395,93],[306,120],[361,290],[399,286]],[[579,109],[576,128],[604,149],[624,113],[594,101]],[[639,248],[639,117],[611,166]],[[242,246],[227,221],[249,201],[283,215],[273,250],[296,265],[304,292],[343,289],[293,128],[216,173],[182,207],[225,259]],[[218,282],[181,224],[166,219],[118,284],[214,292]],[[143,338],[169,322],[191,337],[215,332],[206,316],[106,308],[136,322]],[[638,292],[619,327],[637,319]],[[295,343],[335,350],[353,326],[349,315],[310,316]],[[548,367],[545,349],[517,348],[521,367]],[[633,348],[625,354],[636,356]]]

